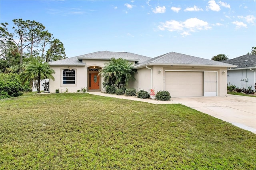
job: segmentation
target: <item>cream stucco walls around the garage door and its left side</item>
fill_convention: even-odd
[[[148,66],[152,68],[152,88],[155,89],[155,92],[165,90],[164,85],[164,73],[166,70],[175,70],[175,71],[217,71],[218,82],[217,82],[217,95],[218,96],[226,96],[227,95],[227,69],[226,68],[209,68],[209,67],[188,67],[188,66],[161,66],[154,65]],[[133,87],[135,89],[138,88],[144,89],[148,91],[151,86],[151,78],[150,78],[150,69],[146,67],[137,69],[138,74],[136,75],[136,82],[131,82],[129,87]],[[225,73],[222,73],[224,72]]]

